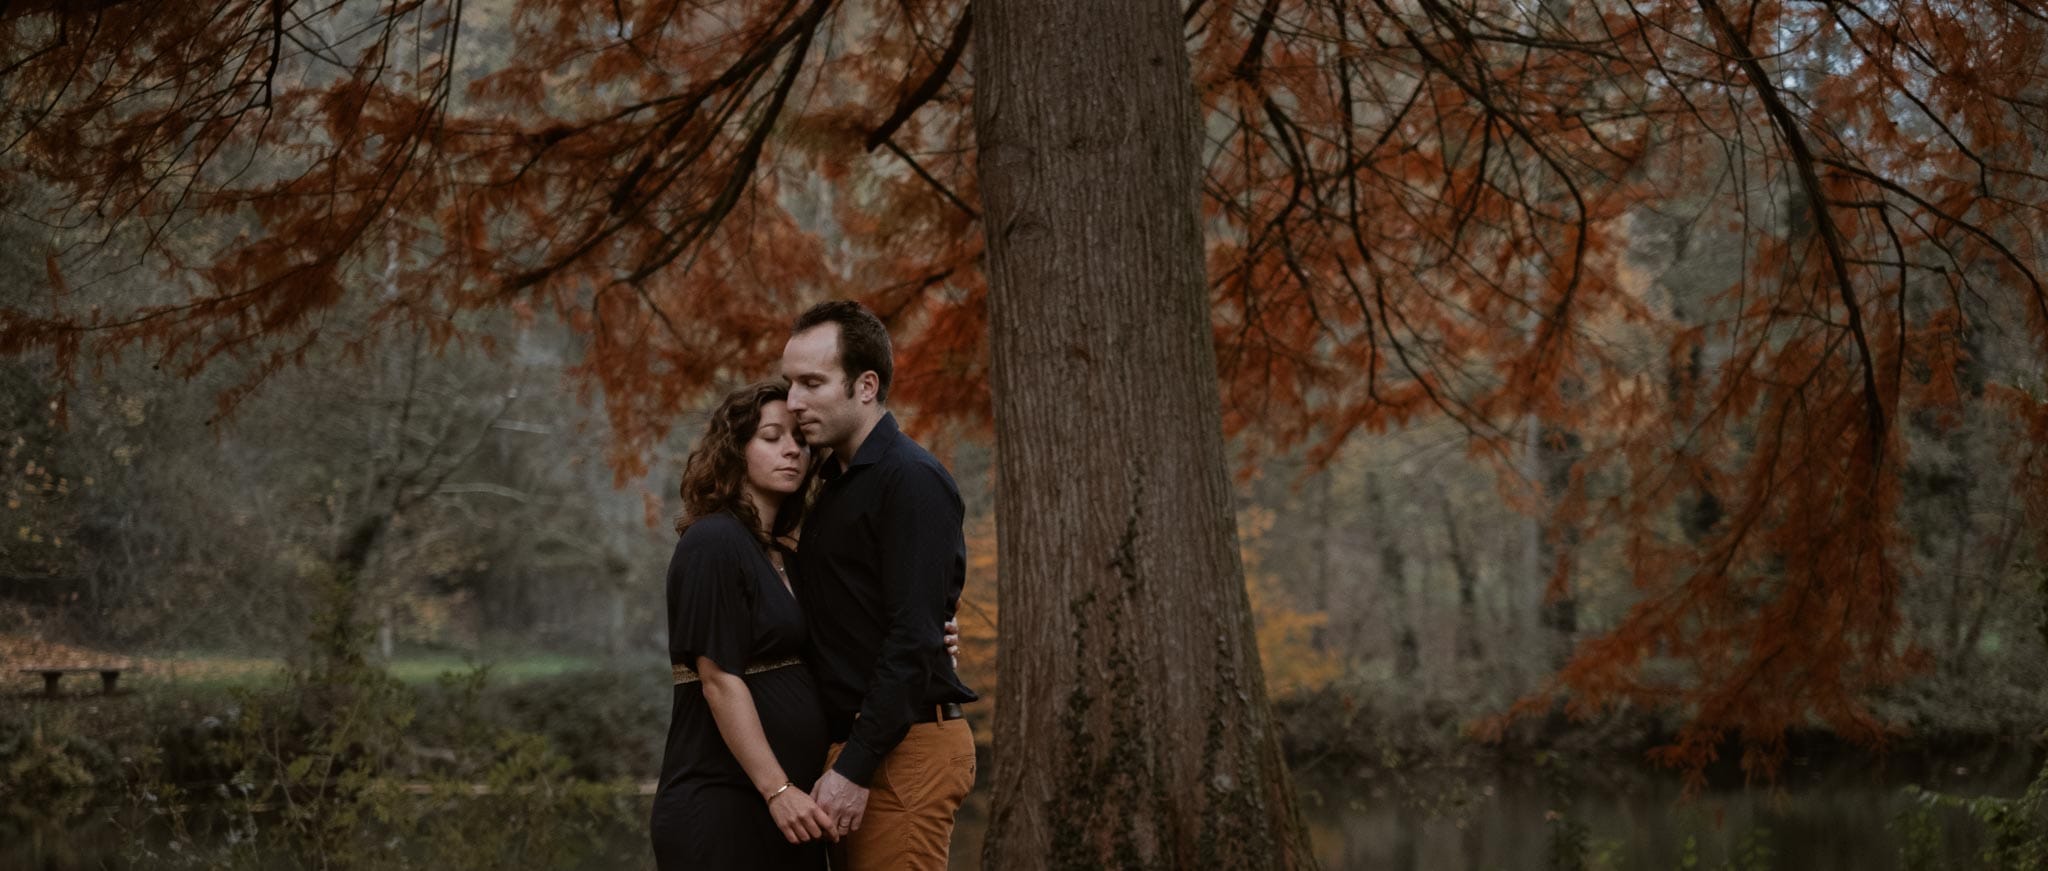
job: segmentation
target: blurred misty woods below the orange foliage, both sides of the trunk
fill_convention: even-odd
[[[1733,266],[1681,260],[1679,242],[1642,240],[1645,293],[1683,293]],[[35,287],[31,264],[6,266],[6,287]],[[2040,379],[2025,342],[1997,324],[1987,320],[1972,375]],[[117,361],[66,391],[47,361],[6,363],[10,656],[31,658],[37,639],[164,660],[166,672],[182,658],[285,660],[307,648],[338,564],[360,559],[352,596],[379,660],[659,660],[672,490],[698,422],[680,418],[657,463],[621,478],[604,416],[561,375],[573,344],[545,318],[477,318],[440,350],[420,338],[322,348],[225,418],[217,398],[233,371],[186,379]],[[993,650],[977,646],[997,635],[989,443],[924,432],[969,500],[965,666],[991,685]],[[2003,453],[2015,439],[1982,402],[1913,426],[1901,641],[1925,668],[1880,709],[1915,738],[2025,736],[2048,713],[2048,574],[2028,535],[2040,519]],[[1327,461],[1260,457],[1237,478],[1280,697],[1417,717],[1411,730],[1470,723],[1540,689],[1577,637],[1636,603],[1626,555],[1597,547],[1575,555],[1571,596],[1548,598],[1540,519],[1450,424],[1358,434]],[[1700,510],[1673,527],[1704,523]],[[362,531],[371,545],[348,549]],[[33,674],[6,678],[39,689]]]

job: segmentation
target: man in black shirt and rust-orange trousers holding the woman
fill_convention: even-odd
[[[823,480],[797,549],[811,668],[834,746],[813,799],[834,867],[946,867],[975,785],[975,736],[942,623],[967,580],[952,475],[889,414],[889,330],[854,301],[813,305],[782,348],[788,410]]]

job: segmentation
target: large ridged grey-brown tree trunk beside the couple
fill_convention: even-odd
[[[1313,863],[1225,475],[1174,0],[977,0],[1004,646],[991,869]]]

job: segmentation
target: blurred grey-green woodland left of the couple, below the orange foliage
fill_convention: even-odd
[[[557,383],[561,336],[485,332],[522,348],[315,348],[231,420],[207,416],[231,371],[111,365],[59,426],[47,365],[6,363],[20,420],[0,428],[18,457],[4,516],[39,545],[0,547],[0,592],[45,629],[129,650],[299,650],[309,619],[344,613],[328,639],[362,652],[375,631],[383,658],[492,637],[655,650],[653,609],[629,603],[659,590],[629,568],[659,562],[666,521],[614,488],[602,422]],[[365,523],[375,535],[342,562]]]

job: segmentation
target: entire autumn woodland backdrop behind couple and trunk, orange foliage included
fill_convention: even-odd
[[[102,6],[0,4],[16,857],[645,861],[680,461],[829,295],[889,320],[967,498],[989,742],[1016,502],[965,4]],[[1806,824],[1903,867],[2048,863],[2048,8],[1731,10],[1182,6],[1237,547],[1325,865],[1870,867],[1788,861],[1761,801],[1628,848],[1745,787],[1874,789]],[[1155,422],[1122,437],[1212,426]],[[20,670],[102,662],[123,693]],[[532,842],[418,803],[479,785]]]

